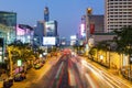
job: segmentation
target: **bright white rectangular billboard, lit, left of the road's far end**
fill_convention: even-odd
[[[43,45],[55,45],[55,44],[56,44],[55,37],[48,37],[48,36],[43,37]]]

